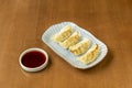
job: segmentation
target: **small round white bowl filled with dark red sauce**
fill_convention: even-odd
[[[47,66],[48,55],[42,48],[28,48],[20,55],[19,63],[26,72],[38,72]]]

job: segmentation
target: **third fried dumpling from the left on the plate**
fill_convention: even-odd
[[[89,38],[85,38],[81,42],[77,43],[69,47],[69,51],[75,55],[80,55],[87,52],[90,46],[91,41]]]

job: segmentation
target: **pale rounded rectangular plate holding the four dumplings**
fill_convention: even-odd
[[[82,64],[81,62],[77,61],[77,56],[72,54],[68,50],[63,48],[59,44],[55,43],[51,37],[58,33],[64,26],[72,25],[75,31],[78,31],[81,37],[88,37],[91,40],[92,43],[97,43],[100,46],[100,54],[99,56],[92,62],[87,65]],[[107,55],[108,48],[105,43],[99,41],[90,32],[79,28],[77,24],[73,22],[62,22],[55,25],[50,26],[45,33],[42,35],[42,41],[50,46],[56,54],[58,54],[63,59],[65,59],[68,64],[76,68],[90,68],[101,62],[105,56]]]

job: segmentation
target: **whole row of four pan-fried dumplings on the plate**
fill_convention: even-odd
[[[52,40],[62,47],[69,50],[74,55],[79,55],[78,61],[84,64],[89,64],[97,58],[100,53],[100,47],[98,44],[91,45],[89,38],[82,38],[80,41],[80,36],[78,31],[74,32],[70,25],[66,25]]]

